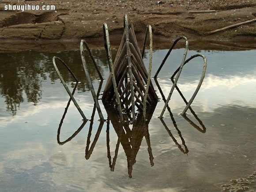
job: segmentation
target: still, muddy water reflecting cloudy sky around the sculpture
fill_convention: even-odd
[[[181,63],[183,51],[173,50],[158,75],[157,83],[166,97],[172,85],[169,77]],[[166,52],[154,51],[153,75]],[[98,128],[96,113],[93,124],[87,122],[63,145],[57,143],[56,136],[69,97],[54,72],[52,57],[63,59],[81,81],[75,99],[90,119],[94,104],[79,51],[0,53],[0,191],[256,190],[255,50],[197,52],[207,57],[207,74],[185,118],[179,116],[185,104],[177,90],[169,102],[170,110],[166,109],[162,121],[158,118],[164,102],[152,79],[160,98],[158,105],[148,125],[143,124],[142,129],[130,125],[133,131],[126,131],[134,138],[130,143],[125,143],[125,132],[119,140],[115,114],[109,113],[110,123]],[[188,56],[197,52],[190,50]],[[93,50],[93,54],[106,79],[105,51]],[[98,75],[90,65],[98,90]],[[59,67],[72,90],[72,76]],[[184,66],[178,87],[187,100],[202,68],[200,58]],[[100,105],[106,119],[108,114]],[[81,124],[82,117],[71,103],[60,141],[72,136]]]

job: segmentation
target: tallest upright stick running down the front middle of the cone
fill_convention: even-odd
[[[130,40],[129,40],[129,26],[128,26],[128,16],[124,15],[124,33],[126,41],[126,53],[128,60],[128,73],[131,86],[131,98],[132,98],[132,120],[135,120],[135,102],[134,102],[134,89],[133,89],[133,75],[132,75],[132,61],[131,61],[131,51],[130,51]]]

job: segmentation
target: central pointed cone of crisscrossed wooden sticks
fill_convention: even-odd
[[[131,22],[128,25],[127,16],[124,17],[124,25],[124,34],[113,63],[113,71],[122,111],[132,111],[134,116],[135,106],[139,111],[143,111],[148,72],[139,51],[133,24]],[[147,105],[156,104],[157,100],[150,80]],[[105,85],[102,102],[104,105],[117,103],[111,72]]]

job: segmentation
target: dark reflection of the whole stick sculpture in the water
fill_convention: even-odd
[[[100,82],[99,87],[98,87],[98,91],[97,91],[97,99],[99,98],[100,95],[100,91],[102,89],[102,82]],[[161,87],[158,84],[157,79],[155,79],[155,83],[162,95],[162,99],[164,102],[166,102],[166,98],[162,92]],[[75,87],[72,91],[72,95],[74,95],[75,93],[75,89],[77,87],[78,83],[75,84]],[[179,94],[181,95],[181,97],[183,98],[184,102],[187,103],[186,99],[184,98],[183,94],[181,93],[181,91],[179,90],[179,88],[175,87],[177,89],[177,91],[179,92]],[[91,154],[94,151],[94,147],[96,146],[96,143],[98,141],[98,138],[102,132],[103,129],[103,125],[106,124],[105,128],[106,128],[106,156],[109,160],[109,168],[111,171],[114,171],[115,169],[115,165],[117,163],[117,156],[118,156],[118,151],[120,150],[120,145],[121,147],[124,149],[124,153],[127,157],[127,166],[128,166],[128,176],[131,178],[132,177],[132,169],[133,169],[133,165],[136,163],[136,156],[139,152],[139,148],[141,146],[142,140],[145,137],[145,140],[147,142],[147,151],[149,154],[149,162],[151,166],[154,166],[154,162],[153,162],[153,153],[152,153],[152,148],[151,148],[151,142],[150,142],[150,134],[149,134],[149,123],[151,121],[152,115],[154,113],[154,110],[156,108],[156,105],[151,106],[148,109],[148,113],[146,116],[146,120],[144,120],[143,118],[143,113],[136,113],[136,120],[132,121],[132,116],[130,113],[124,113],[123,117],[124,120],[121,122],[117,117],[118,117],[118,110],[113,108],[113,107],[109,107],[109,106],[105,106],[105,111],[107,113],[107,120],[105,122],[100,122],[100,124],[98,125],[98,129],[97,132],[94,136],[93,141],[91,142],[91,135],[92,135],[92,130],[94,128],[93,124],[94,124],[94,116],[96,114],[96,105],[94,103],[94,108],[92,110],[92,115],[90,120],[84,120],[83,123],[80,125],[80,127],[72,134],[72,136],[70,136],[68,139],[64,140],[64,141],[60,141],[60,131],[61,131],[61,127],[63,125],[63,121],[65,118],[65,115],[68,111],[68,107],[70,105],[71,102],[71,98],[68,100],[67,106],[64,110],[64,114],[60,120],[60,124],[59,124],[59,128],[58,128],[58,132],[57,132],[57,141],[60,145],[63,145],[65,143],[67,143],[68,141],[71,141],[87,124],[87,122],[90,121],[89,124],[89,132],[87,135],[87,144],[85,147],[85,158],[88,160],[91,156]],[[189,107],[192,115],[196,118],[196,120],[198,120],[199,124],[201,125],[202,128],[200,128],[198,125],[196,125],[192,120],[190,120],[186,115],[182,116],[184,117],[185,120],[188,121],[189,124],[191,124],[194,128],[196,128],[198,131],[205,133],[206,132],[206,128],[203,125],[203,122],[197,117],[196,113],[192,110],[191,107]],[[185,140],[181,135],[181,131],[179,130],[177,123],[174,119],[173,113],[171,112],[171,109],[169,107],[169,105],[167,105],[167,110],[169,112],[169,115],[173,121],[173,126],[174,128],[177,130],[177,133],[181,139],[182,144],[178,143],[177,139],[173,136],[172,132],[170,131],[168,125],[165,123],[165,121],[160,118],[159,120],[162,122],[163,126],[165,127],[166,131],[168,132],[169,136],[172,138],[173,142],[177,145],[177,147],[179,148],[179,150],[184,153],[184,154],[188,154],[188,147],[185,144]],[[98,121],[98,120],[96,120]],[[109,139],[109,129],[110,129],[110,123],[112,124],[116,134],[117,134],[117,143],[116,143],[116,148],[115,148],[115,152],[114,152],[114,156],[113,159],[111,157],[110,154],[110,139]],[[132,128],[130,128],[132,126]],[[91,145],[90,145],[91,144]],[[182,145],[184,147],[182,147]]]

